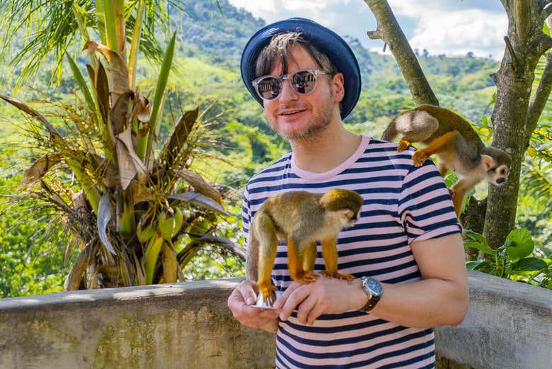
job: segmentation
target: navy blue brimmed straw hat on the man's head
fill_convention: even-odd
[[[284,32],[300,32],[304,39],[311,42],[318,50],[328,55],[331,62],[345,77],[345,96],[341,102],[341,118],[344,119],[357,104],[360,96],[360,69],[357,58],[347,42],[323,25],[306,18],[289,18],[266,25],[258,30],[247,42],[241,54],[241,78],[255,100],[263,105],[263,100],[255,92],[251,83],[255,76],[257,57],[268,45],[273,35]]]

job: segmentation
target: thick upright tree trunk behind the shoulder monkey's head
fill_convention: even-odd
[[[497,84],[493,146],[510,154],[512,168],[504,185],[489,187],[483,234],[493,248],[502,245],[514,228],[534,71],[539,57],[552,45],[551,38],[542,32],[548,16],[542,1],[502,4],[508,15],[508,35],[502,64],[493,74]]]

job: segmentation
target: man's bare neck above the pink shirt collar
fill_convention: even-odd
[[[290,142],[295,164],[304,171],[324,173],[357,151],[360,135],[345,130],[343,124],[329,125],[315,137]]]

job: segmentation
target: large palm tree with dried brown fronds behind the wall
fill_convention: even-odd
[[[6,40],[29,25],[25,22],[38,26],[13,59],[27,60],[19,81],[32,76],[54,50],[59,65],[67,59],[81,92],[81,106],[56,105],[64,130],[27,104],[0,96],[40,127],[31,132],[42,155],[25,170],[21,185],[57,210],[71,234],[68,251],[74,245],[80,249],[68,290],[183,280],[181,268],[206,244],[243,258],[241,249],[214,236],[217,215],[227,215],[221,193],[190,171],[200,149],[212,144],[209,128],[219,117],[209,120],[197,109],[183,113],[156,150],[175,35],[159,52],[154,28],[159,19],[168,19],[169,4],[0,1],[0,21],[7,30],[4,51]],[[81,40],[88,53],[88,82],[66,52],[73,39]],[[139,50],[154,58],[162,55],[151,100],[134,88]],[[38,184],[39,191],[30,191]]]

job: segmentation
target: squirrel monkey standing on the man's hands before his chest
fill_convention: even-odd
[[[326,276],[351,280],[338,273],[338,233],[360,217],[362,197],[343,189],[316,194],[289,191],[272,195],[255,213],[249,229],[246,275],[256,280],[265,304],[275,301],[276,288],[270,274],[274,267],[278,238],[287,240],[289,274],[298,283],[316,280],[313,273],[316,242],[322,244]]]

